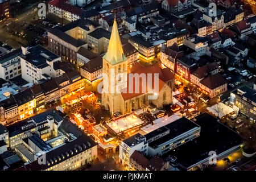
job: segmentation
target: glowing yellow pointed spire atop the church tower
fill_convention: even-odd
[[[112,65],[126,61],[127,58],[123,54],[123,48],[121,44],[121,39],[119,36],[117,21],[114,19],[114,24],[112,28],[112,33],[109,40],[108,52],[103,56],[103,58],[111,63]]]

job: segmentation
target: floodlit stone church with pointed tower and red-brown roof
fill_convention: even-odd
[[[168,68],[160,68],[159,64],[144,67],[136,62],[128,65],[115,20],[108,51],[102,61],[101,100],[110,113],[130,113],[150,104],[157,108],[172,104],[173,73]]]

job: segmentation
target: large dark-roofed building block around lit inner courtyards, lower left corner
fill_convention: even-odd
[[[97,143],[55,110],[14,123],[6,131],[6,146],[26,162],[18,171],[75,170],[97,158]]]

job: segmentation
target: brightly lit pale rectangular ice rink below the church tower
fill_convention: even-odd
[[[121,117],[115,121],[106,122],[115,133],[121,133],[122,131],[129,130],[135,126],[142,125],[144,122],[137,117],[135,114],[127,115],[126,117]]]

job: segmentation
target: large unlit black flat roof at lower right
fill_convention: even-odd
[[[200,136],[175,148],[175,151],[167,152],[163,155],[164,158],[176,156],[175,163],[190,168],[201,160],[209,158],[209,151],[216,151],[219,155],[243,143],[240,135],[222,125],[209,113],[200,114],[192,121],[201,127]]]

